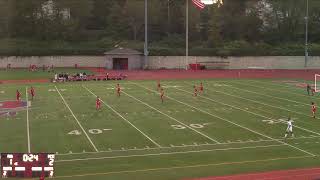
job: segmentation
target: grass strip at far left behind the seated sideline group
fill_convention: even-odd
[[[77,72],[86,72],[87,74],[92,74],[92,72],[89,70],[75,68],[55,68],[54,72],[42,71],[41,67],[35,72],[31,72],[28,69],[0,69],[0,80],[49,79],[53,78],[55,73],[63,72],[68,72],[69,74],[75,74]]]

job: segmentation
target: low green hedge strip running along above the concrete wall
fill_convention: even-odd
[[[151,56],[184,56],[185,47],[178,42],[167,40],[150,43]],[[180,46],[178,46],[180,45]],[[0,56],[50,56],[50,55],[103,55],[105,51],[118,46],[133,48],[143,52],[141,41],[119,41],[101,39],[91,42],[39,42],[31,40],[0,40]],[[303,44],[269,45],[265,43],[250,44],[245,41],[226,42],[215,48],[190,43],[190,56],[303,56]],[[311,44],[310,56],[320,56],[320,44]]]

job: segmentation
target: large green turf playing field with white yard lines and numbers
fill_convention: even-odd
[[[302,81],[301,81],[302,82]],[[0,118],[0,152],[54,152],[55,179],[190,179],[320,165],[320,115],[305,89],[272,80],[36,84],[31,106]],[[0,85],[1,102],[26,85]],[[96,96],[103,108],[95,109]],[[31,99],[29,98],[29,101]],[[294,138],[285,140],[286,119]]]

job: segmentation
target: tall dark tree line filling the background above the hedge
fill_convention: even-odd
[[[258,55],[266,49],[275,54],[295,49],[293,54],[301,54],[306,1],[224,0],[199,10],[190,0],[191,53]],[[186,0],[148,0],[151,53],[183,54],[185,8]],[[319,0],[309,0],[311,51],[320,44],[319,9]],[[10,47],[1,45],[11,40],[15,43]],[[21,40],[32,42],[35,49],[44,42],[48,49],[65,50],[65,44],[71,48],[83,44],[81,49],[94,52],[117,46],[142,49],[144,0],[0,0],[0,54],[1,47],[20,47]]]

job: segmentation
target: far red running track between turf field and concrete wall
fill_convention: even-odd
[[[210,79],[210,78],[284,78],[284,79],[305,79],[313,80],[315,74],[320,70],[136,70],[136,71],[115,71],[103,68],[83,68],[95,74],[127,75],[129,80],[157,80],[157,79]],[[37,80],[1,80],[1,83],[45,83],[48,79]]]

